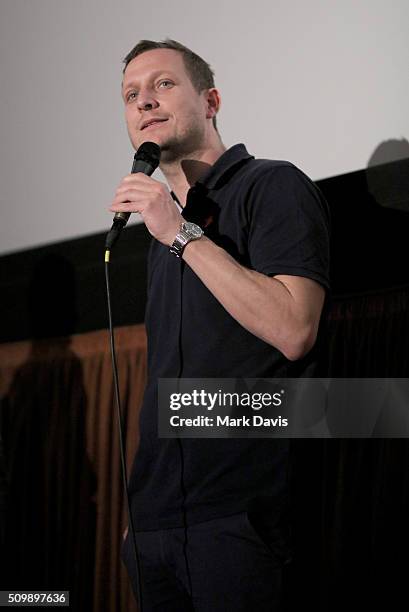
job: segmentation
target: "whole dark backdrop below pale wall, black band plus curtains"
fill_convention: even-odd
[[[324,376],[408,376],[408,177],[402,160],[317,183],[332,215]],[[0,588],[70,589],[73,610],[131,612],[104,238],[0,258]],[[128,465],[146,376],[148,244],[143,226],[127,228],[111,264]],[[408,474],[406,439],[292,441],[287,610],[407,605]]]

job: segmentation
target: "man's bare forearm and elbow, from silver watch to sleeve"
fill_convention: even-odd
[[[183,259],[240,325],[287,359],[313,347],[325,297],[319,283],[249,270],[204,236],[185,247]]]

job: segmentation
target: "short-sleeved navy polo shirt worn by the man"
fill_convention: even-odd
[[[290,162],[255,159],[237,144],[190,188],[182,214],[241,265],[329,289],[328,206]],[[290,362],[244,329],[183,259],[154,239],[145,323],[148,381],[129,481],[135,528],[180,527],[254,508],[278,516],[288,492],[288,441],[160,439],[157,381],[313,376],[318,343]]]

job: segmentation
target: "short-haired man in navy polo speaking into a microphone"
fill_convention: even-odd
[[[171,188],[130,174],[110,207],[140,213],[154,238],[148,383],[129,480],[143,609],[278,610],[290,558],[288,441],[159,439],[157,381],[312,375],[328,288],[326,204],[289,162],[226,149],[213,73],[192,51],[141,41],[124,62],[130,140],[160,146]],[[123,555],[135,588],[129,537]]]

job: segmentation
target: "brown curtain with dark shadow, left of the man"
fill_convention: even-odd
[[[142,325],[115,332],[128,471],[146,377]],[[136,610],[106,331],[0,345],[6,537],[1,584],[69,589],[74,610]]]

